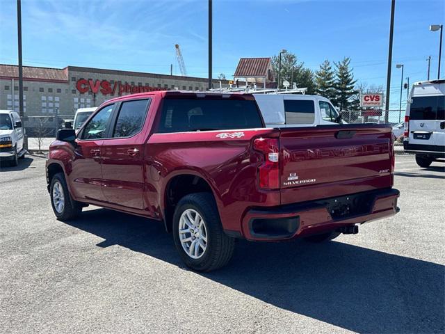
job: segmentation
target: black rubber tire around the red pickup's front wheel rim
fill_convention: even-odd
[[[56,184],[60,184],[58,188],[61,188],[61,191],[63,191],[64,205],[63,209],[60,209],[60,211],[58,211],[54,205],[54,186]],[[59,221],[71,221],[79,217],[81,214],[82,204],[81,202],[77,202],[71,198],[70,191],[68,191],[67,182],[65,181],[65,175],[63,175],[63,173],[57,173],[51,179],[49,196],[51,196],[51,207],[53,208],[54,214]]]

